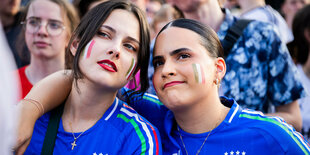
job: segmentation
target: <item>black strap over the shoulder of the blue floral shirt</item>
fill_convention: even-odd
[[[231,48],[237,42],[239,37],[242,35],[243,30],[252,21],[253,20],[239,19],[227,30],[227,34],[226,34],[224,40],[222,41],[222,46],[224,49],[224,57],[225,58],[227,57]]]

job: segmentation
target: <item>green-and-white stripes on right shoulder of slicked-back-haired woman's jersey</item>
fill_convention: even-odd
[[[244,117],[244,118],[248,118],[248,119],[255,119],[255,120],[260,120],[260,121],[266,121],[266,122],[276,124],[279,127],[281,127],[282,129],[284,129],[284,131],[286,131],[286,133],[291,136],[291,138],[295,141],[295,143],[300,147],[300,149],[305,154],[308,154],[308,152],[310,151],[308,148],[308,145],[306,145],[304,143],[304,141],[299,138],[300,136],[297,136],[296,134],[294,134],[294,131],[289,131],[289,129],[286,126],[284,126],[282,122],[278,122],[278,121],[276,121],[274,119],[270,119],[270,118],[263,118],[260,116],[253,116],[253,115],[249,115],[249,114],[240,114],[239,117]],[[297,136],[298,139],[296,139],[295,136]],[[308,151],[306,151],[306,149]]]

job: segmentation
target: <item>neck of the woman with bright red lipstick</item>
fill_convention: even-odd
[[[78,80],[77,88],[74,81],[62,116],[65,130],[82,132],[89,129],[113,104],[116,93],[104,91],[86,79]]]

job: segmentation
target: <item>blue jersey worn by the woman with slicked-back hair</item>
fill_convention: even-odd
[[[241,108],[233,99],[221,97],[230,107],[225,120],[210,133],[190,134],[182,129],[184,145],[188,154],[249,155],[249,154],[309,154],[309,145],[290,125],[278,117],[267,117],[261,112]],[[146,119],[160,131],[163,154],[186,154],[177,130],[173,113],[158,98],[145,94],[130,102]]]

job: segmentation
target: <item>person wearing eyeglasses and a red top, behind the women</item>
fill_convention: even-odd
[[[22,98],[47,75],[65,68],[65,49],[79,18],[65,0],[33,0],[21,24],[30,64],[18,69]]]

